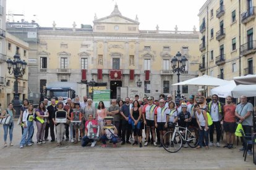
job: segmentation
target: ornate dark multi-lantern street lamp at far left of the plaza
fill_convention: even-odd
[[[25,60],[23,61],[20,60],[19,54],[15,54],[14,60],[8,59],[6,63],[7,63],[7,68],[9,70],[9,74],[10,75],[14,74],[14,77],[15,77],[13,104],[14,104],[14,109],[16,111],[16,115],[19,116],[21,103],[20,103],[19,91],[18,91],[18,78],[24,75],[27,63],[25,62]],[[11,71],[11,68],[12,68],[12,71]]]

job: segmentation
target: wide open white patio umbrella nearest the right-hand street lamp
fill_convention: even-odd
[[[197,78],[188,79],[186,81],[182,81],[180,83],[175,83],[172,85],[173,86],[176,86],[176,85],[221,86],[228,83],[229,81],[226,81],[224,79],[203,75],[203,76],[198,76]]]

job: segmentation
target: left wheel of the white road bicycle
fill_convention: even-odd
[[[174,139],[173,139],[173,135],[174,135]],[[166,137],[166,144],[163,144],[164,137]],[[175,152],[178,152],[181,149],[182,138],[181,138],[181,135],[178,132],[176,132],[175,134],[173,134],[172,131],[166,132],[163,135],[163,139],[162,139],[161,143],[163,145],[163,148],[167,152],[175,153]]]

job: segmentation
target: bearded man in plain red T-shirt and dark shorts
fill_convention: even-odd
[[[233,98],[229,95],[226,97],[226,105],[224,105],[224,121],[223,127],[226,132],[226,141],[227,144],[224,147],[233,148],[234,144],[234,132],[236,132],[236,106],[232,103]]]

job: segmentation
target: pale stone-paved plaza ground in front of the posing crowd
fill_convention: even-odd
[[[153,145],[139,148],[118,144],[117,148],[112,145],[101,148],[100,142],[91,148],[71,142],[57,147],[56,143],[48,141],[20,149],[20,127],[14,127],[12,147],[4,147],[3,131],[0,126],[0,169],[256,169],[252,156],[247,156],[244,162],[242,152],[238,151],[241,144],[234,149],[181,148],[177,153],[168,153]],[[36,141],[35,134],[33,140]]]

